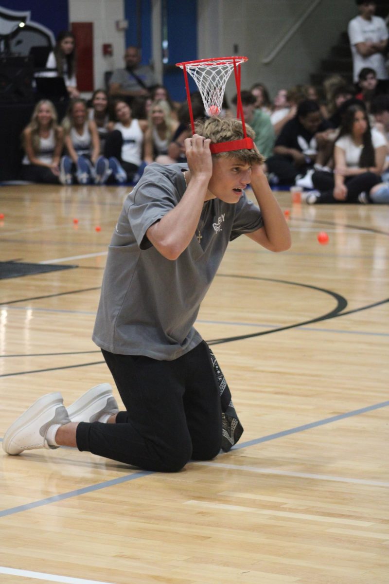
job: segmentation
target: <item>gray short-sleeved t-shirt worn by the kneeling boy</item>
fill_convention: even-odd
[[[263,225],[260,209],[246,194],[236,204],[212,199],[194,235],[174,261],[146,237],[148,228],[174,208],[185,192],[186,164],[146,167],[124,202],[108,249],[93,340],[111,353],[177,359],[201,336],[193,328],[229,241]]]

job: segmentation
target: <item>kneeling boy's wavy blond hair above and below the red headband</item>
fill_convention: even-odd
[[[219,142],[231,142],[232,140],[242,140],[244,138],[243,127],[240,120],[233,118],[223,118],[212,116],[207,120],[198,120],[195,122],[195,131],[197,134],[210,138],[213,144]],[[246,133],[249,138],[255,138],[253,128],[246,124]],[[230,152],[220,152],[212,154],[214,158],[237,158],[244,164],[263,164],[265,158],[258,152],[258,149],[251,148],[248,150],[232,150]]]

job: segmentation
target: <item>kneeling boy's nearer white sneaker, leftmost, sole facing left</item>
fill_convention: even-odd
[[[55,449],[46,440],[50,426],[63,426],[71,420],[59,393],[43,395],[22,413],[5,433],[3,450],[7,454],[20,454],[36,448]]]

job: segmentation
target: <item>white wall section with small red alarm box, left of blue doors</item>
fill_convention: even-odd
[[[116,20],[124,19],[123,0],[69,0],[70,22],[93,22],[94,88],[104,87],[104,72],[124,67],[125,31],[116,30]],[[103,44],[111,43],[113,56],[103,56]],[[83,94],[89,97],[89,93]]]

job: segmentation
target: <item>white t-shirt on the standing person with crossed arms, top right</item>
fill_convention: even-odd
[[[349,22],[348,34],[351,44],[354,81],[358,81],[359,71],[364,67],[374,69],[377,73],[377,79],[388,79],[384,55],[382,53],[374,53],[370,57],[362,57],[355,46],[358,43],[378,43],[381,40],[386,40],[389,34],[384,19],[380,18],[380,16],[372,16],[371,20],[366,20],[362,16],[356,16]]]

